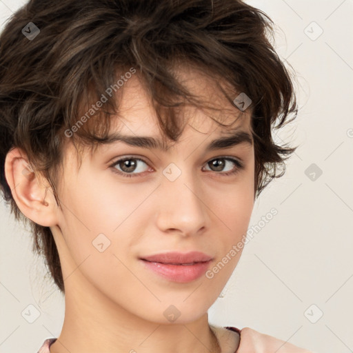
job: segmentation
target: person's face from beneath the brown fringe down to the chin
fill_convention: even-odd
[[[235,121],[239,111],[212,91],[212,81],[192,72],[181,75],[188,88],[225,109],[223,123]],[[114,121],[111,132],[161,139],[135,77],[125,83],[121,104],[123,119]],[[244,239],[252,213],[254,149],[247,141],[208,146],[235,132],[251,138],[250,116],[236,120],[230,134],[230,127],[201,110],[185,112],[188,125],[166,151],[116,141],[92,155],[85,152],[78,168],[68,145],[59,188],[63,206],[51,228],[66,295],[89,293],[148,321],[168,323],[175,314],[187,323],[205,314],[221,293],[241,256],[234,246]],[[141,260],[192,251],[212,260],[194,265]]]

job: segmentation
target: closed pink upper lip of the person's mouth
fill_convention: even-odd
[[[205,262],[212,260],[212,256],[204,254],[199,251],[192,252],[164,252],[161,254],[154,254],[144,256],[142,260],[159,262],[159,263],[193,263]]]

